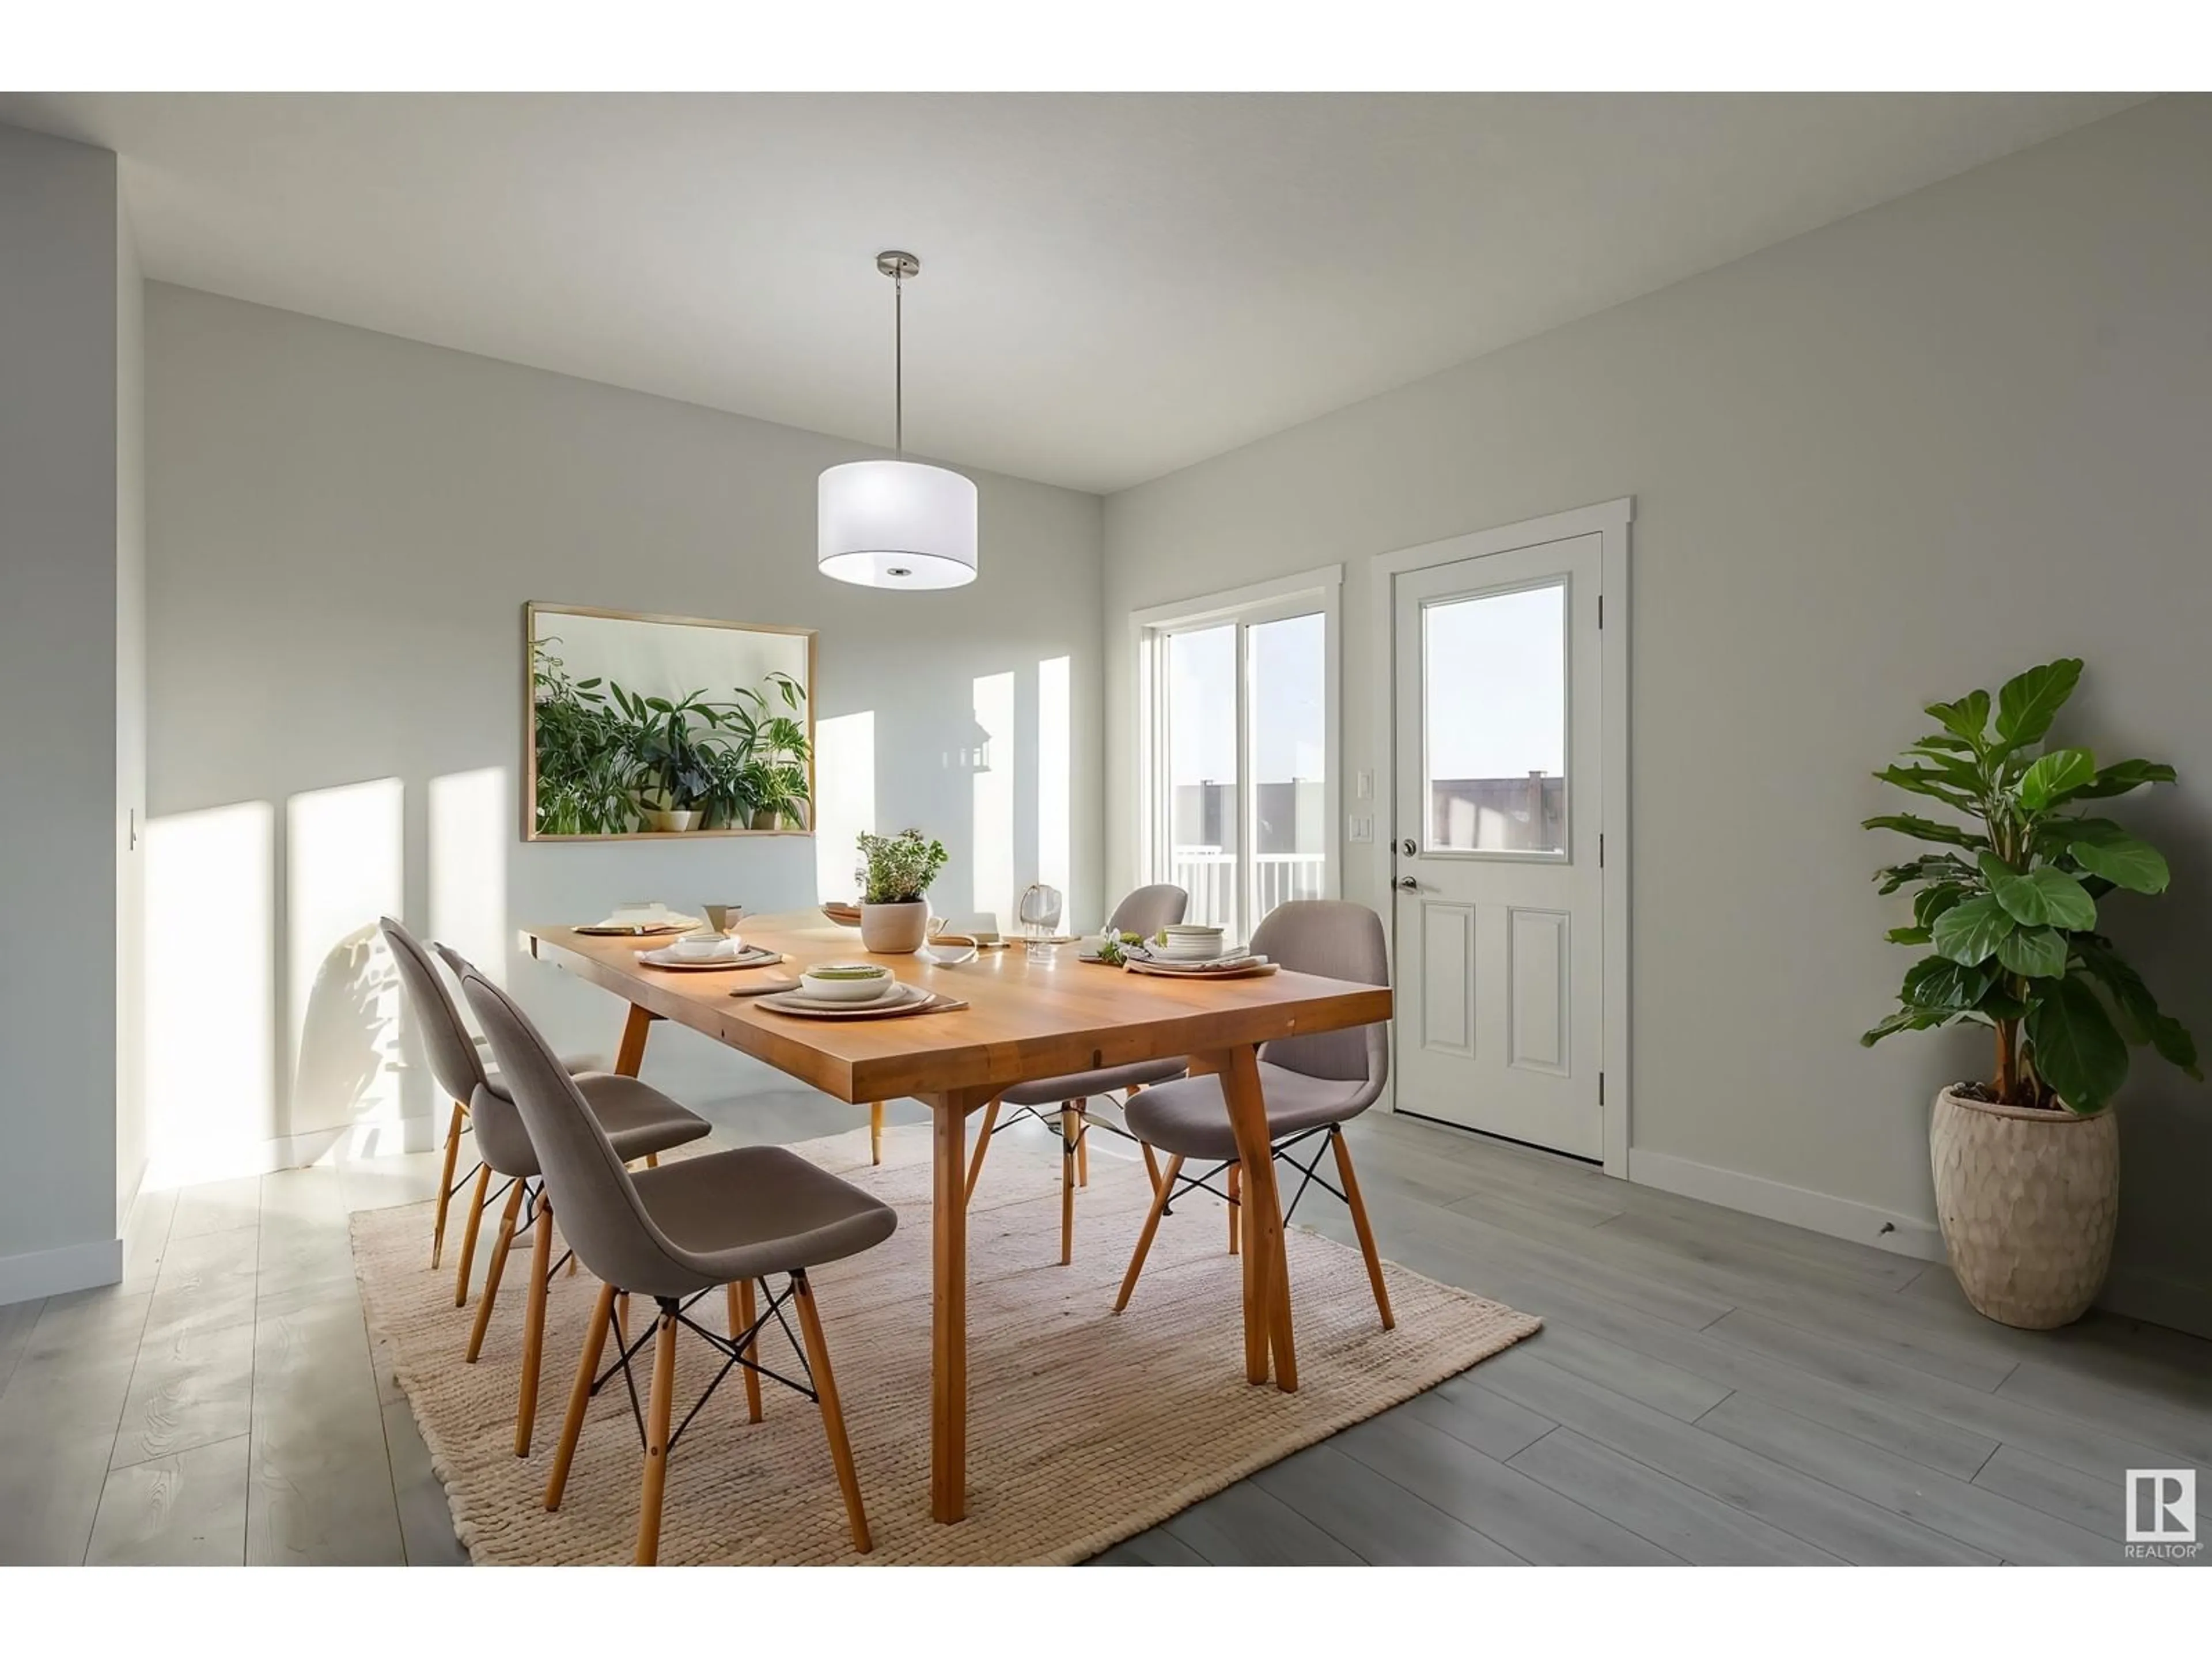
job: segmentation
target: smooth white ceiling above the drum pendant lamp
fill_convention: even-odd
[[[1119,489],[2139,102],[0,93],[148,276]]]

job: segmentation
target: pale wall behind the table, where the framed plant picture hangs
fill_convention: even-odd
[[[630,898],[770,911],[823,896],[796,836],[524,845],[526,599],[821,628],[816,714],[874,726],[872,774],[841,792],[953,847],[947,902],[975,880],[978,792],[958,761],[975,681],[1015,684],[1015,730],[993,743],[1013,765],[1011,825],[987,825],[1011,847],[993,878],[1011,905],[1037,856],[1040,661],[1071,657],[1073,885],[1097,909],[1095,495],[978,476],[982,580],[885,595],[814,573],[814,480],[854,445],[161,283],[146,334],[164,1170],[294,1135],[312,1152],[349,1119],[431,1110],[420,1073],[389,1071],[387,987],[336,949],[387,900],[498,958],[524,920]],[[613,1048],[611,998],[509,973],[555,1040]],[[688,1097],[787,1086],[670,1029],[646,1075]]]

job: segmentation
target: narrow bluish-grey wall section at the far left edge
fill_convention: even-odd
[[[117,1245],[115,157],[0,128],[0,1303]]]

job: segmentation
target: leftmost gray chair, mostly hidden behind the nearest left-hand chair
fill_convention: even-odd
[[[491,1307],[500,1296],[500,1281],[507,1274],[507,1254],[522,1234],[529,1234],[531,1239],[531,1294],[522,1325],[522,1378],[515,1394],[515,1455],[526,1458],[531,1451],[531,1433],[538,1425],[538,1378],[544,1363],[546,1332],[546,1281],[555,1270],[553,1225],[544,1203],[544,1192],[535,1190],[542,1188],[538,1155],[531,1150],[531,1137],[522,1128],[522,1117],[507,1097],[504,1079],[498,1071],[484,1066],[476,1040],[462,1024],[460,1009],[453,1006],[453,998],[447,995],[445,982],[438,978],[438,964],[431,962],[429,951],[414,933],[389,916],[385,916],[378,927],[383,929],[385,945],[392,949],[392,962],[398,967],[400,995],[407,1000],[407,1011],[414,1015],[414,1029],[422,1037],[431,1075],[453,1099],[451,1130],[458,1130],[462,1119],[467,1119],[476,1130],[476,1152],[482,1159],[478,1168],[471,1170],[476,1177],[476,1192],[469,1203],[469,1221],[460,1243],[460,1274],[453,1283],[456,1307],[462,1307],[469,1301],[469,1267],[476,1259],[476,1234],[484,1219],[484,1210],[495,1197],[507,1199],[507,1206],[500,1212],[500,1237],[493,1243],[491,1259],[484,1263],[484,1294],[476,1305],[476,1323],[469,1327],[469,1365],[473,1365],[478,1354],[484,1349],[484,1332],[491,1329]],[[438,945],[436,951],[447,960],[456,978],[469,969],[469,962],[456,951],[449,951],[445,945]],[[646,1088],[635,1077],[580,1068],[573,1060],[562,1060],[560,1064],[564,1071],[577,1075],[577,1086],[584,1091],[586,1099],[591,1099],[593,1110],[599,1115],[608,1135],[615,1137],[615,1144],[624,1148],[624,1157],[657,1157],[672,1146],[697,1141],[712,1130],[712,1124],[703,1117],[684,1110],[653,1088]],[[467,1108],[462,1102],[467,1102]],[[453,1186],[456,1141],[458,1133],[449,1133],[445,1175],[438,1181],[438,1190],[447,1197],[458,1190]],[[498,1192],[491,1190],[491,1179],[495,1175],[507,1181],[507,1186]],[[431,1239],[431,1267],[438,1265],[438,1245],[442,1241],[445,1228],[440,1225]]]

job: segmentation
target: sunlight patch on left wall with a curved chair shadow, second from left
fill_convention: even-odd
[[[400,1117],[398,980],[378,916],[405,905],[405,785],[345,783],[285,803],[288,1037],[281,1133]]]

